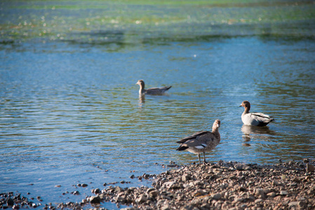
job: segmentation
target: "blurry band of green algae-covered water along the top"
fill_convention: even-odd
[[[311,1],[3,1],[0,41],[139,43],[315,34]],[[124,34],[124,38],[116,38]]]

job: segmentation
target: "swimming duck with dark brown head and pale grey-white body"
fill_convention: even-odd
[[[274,121],[274,118],[271,118],[264,113],[249,113],[250,102],[248,101],[243,101],[240,106],[243,106],[245,109],[242,113],[242,121],[244,125],[264,126]]]

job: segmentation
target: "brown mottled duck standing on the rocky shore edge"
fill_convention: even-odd
[[[177,148],[177,151],[189,151],[190,153],[198,154],[199,164],[200,162],[200,153],[203,153],[203,162],[206,162],[205,153],[206,151],[211,151],[220,143],[220,120],[215,120],[213,123],[212,132],[201,131],[192,134],[189,137],[180,139],[176,143],[180,143],[180,147]]]

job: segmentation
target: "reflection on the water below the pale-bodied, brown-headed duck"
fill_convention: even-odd
[[[267,126],[260,127],[251,125],[243,125],[241,132],[243,132],[243,146],[250,146],[250,141],[255,139],[270,141],[270,136],[275,134],[275,132],[270,130]]]

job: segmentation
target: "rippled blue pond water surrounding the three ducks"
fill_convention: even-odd
[[[206,154],[210,162],[315,158],[314,38],[211,34],[130,43],[115,33],[110,42],[82,42],[78,34],[2,42],[0,193],[80,202],[103,183],[149,186],[130,176],[164,172],[170,161],[196,162],[176,151],[175,141],[211,130],[216,119],[222,139]],[[139,97],[139,79],[172,87]],[[244,126],[243,100],[276,122]]]

